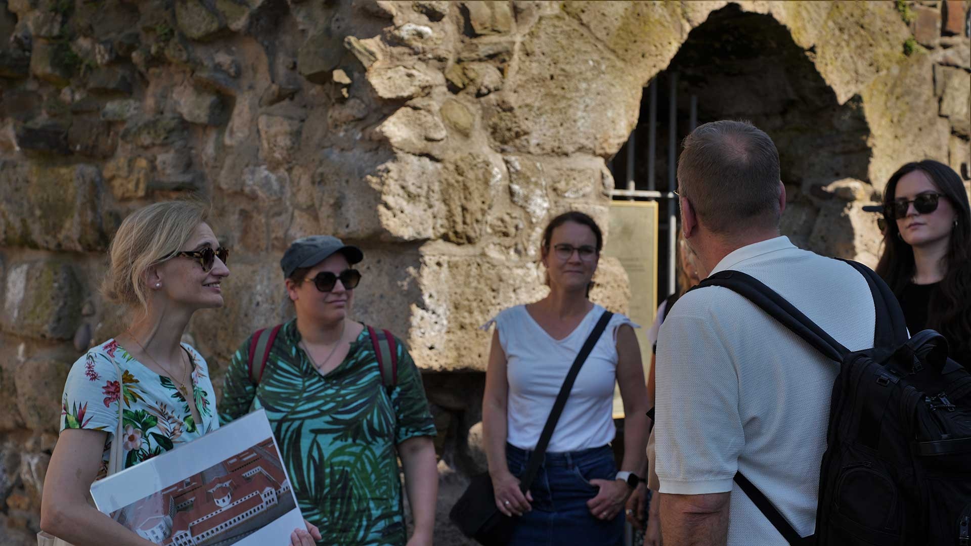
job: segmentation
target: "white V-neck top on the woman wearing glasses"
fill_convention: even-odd
[[[560,340],[553,339],[537,324],[524,305],[506,309],[489,321],[488,324],[496,324],[499,343],[506,354],[509,382],[506,441],[519,449],[536,447],[556,394],[603,312],[603,307],[594,305],[580,325]],[[599,447],[614,439],[612,412],[620,324],[640,327],[620,314],[611,318],[580,368],[553,430],[548,452]]]

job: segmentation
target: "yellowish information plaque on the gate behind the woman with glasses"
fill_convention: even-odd
[[[630,281],[630,304],[627,316],[641,325],[637,341],[647,381],[653,351],[646,332],[657,313],[657,218],[654,201],[611,201],[610,231],[604,256],[616,257]],[[614,387],[614,419],[623,418],[620,390]]]

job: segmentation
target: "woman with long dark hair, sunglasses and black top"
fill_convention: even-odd
[[[925,159],[893,173],[884,197],[877,272],[896,294],[911,334],[935,329],[971,369],[971,208],[957,173]]]

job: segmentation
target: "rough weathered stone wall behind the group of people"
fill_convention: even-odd
[[[289,241],[360,245],[355,315],[407,339],[425,372],[438,538],[460,542],[444,514],[484,461],[477,328],[544,293],[552,215],[578,208],[606,226],[606,161],[642,87],[724,10],[771,17],[795,51],[775,63],[798,65],[777,84],[813,89],[762,112],[784,154],[816,150],[778,122],[813,116],[804,103],[843,138],[787,163],[798,242],[874,263],[879,234],[860,207],[900,163],[932,157],[969,178],[966,2],[3,2],[0,541],[37,529],[71,362],[123,329],[96,294],[118,223],[198,193],[233,250],[225,308],[189,328],[216,383],[252,329],[287,316]],[[619,264],[603,260],[596,280],[594,299],[624,310]]]

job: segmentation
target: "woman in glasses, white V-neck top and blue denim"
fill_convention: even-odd
[[[648,396],[633,327],[615,315],[577,376],[543,464],[525,495],[519,475],[536,447],[574,358],[603,307],[587,298],[603,247],[580,212],[550,222],[540,249],[550,294],[506,309],[492,322],[483,427],[496,506],[518,516],[511,544],[619,545],[624,501],[641,479]],[[614,384],[627,416],[618,472],[610,442]]]

